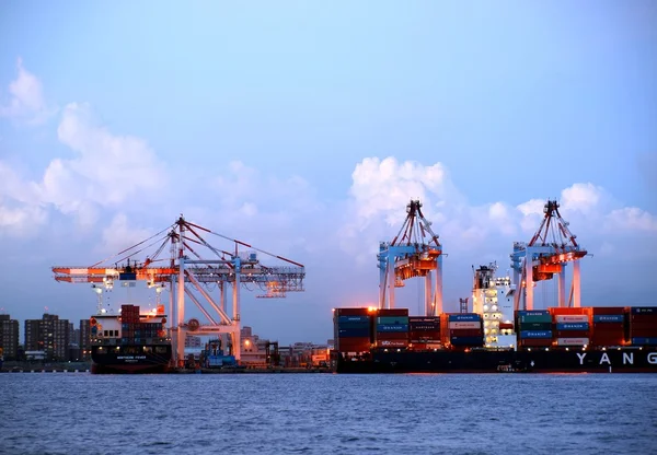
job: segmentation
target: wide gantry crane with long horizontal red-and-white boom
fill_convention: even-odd
[[[201,233],[232,242],[234,249],[226,252],[216,248],[201,236]],[[215,258],[204,259],[192,244],[195,244],[194,248],[199,252],[205,248],[204,253],[209,252]],[[153,254],[147,255],[142,261],[136,259],[138,255],[146,255],[147,250],[155,245],[159,247]],[[171,252],[170,258],[160,258],[168,245]],[[239,247],[249,249],[240,252]],[[256,252],[287,262],[289,266],[264,266]],[[164,264],[155,266],[155,262]],[[233,354],[239,361],[242,285],[255,284],[265,292],[260,296],[285,298],[287,292],[303,291],[306,277],[302,264],[191,223],[183,215],[153,236],[91,267],[53,267],[53,272],[56,281],[92,283],[96,290],[112,289],[114,281],[117,280],[143,280],[149,288],[168,284],[171,315],[169,329],[176,364],[184,359],[185,335],[189,331],[195,335],[212,336],[228,334],[232,341]],[[219,288],[219,302],[211,295],[210,285]],[[227,308],[227,285],[232,287],[232,315],[229,315]],[[185,323],[185,295],[200,310],[207,323],[200,324],[197,320]],[[206,308],[204,301],[211,306],[214,315]]]

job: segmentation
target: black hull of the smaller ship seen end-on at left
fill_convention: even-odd
[[[157,353],[155,353],[157,352]],[[171,345],[120,346],[118,349],[92,347],[91,373],[166,373],[172,359]]]

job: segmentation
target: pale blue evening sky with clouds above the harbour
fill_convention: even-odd
[[[88,318],[90,285],[51,267],[182,213],[303,264],[304,292],[244,289],[242,324],[325,342],[331,308],[376,304],[411,199],[448,312],[548,198],[590,254],[583,305],[657,305],[655,23],[648,0],[3,2],[0,312]],[[419,314],[419,280],[396,301]]]

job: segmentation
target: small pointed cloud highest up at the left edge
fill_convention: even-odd
[[[28,125],[42,124],[57,108],[47,105],[41,81],[23,67],[21,58],[18,59],[16,70],[16,79],[9,84],[10,100],[0,105],[0,117]]]

